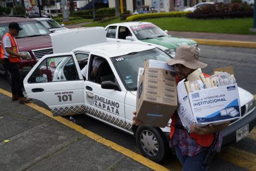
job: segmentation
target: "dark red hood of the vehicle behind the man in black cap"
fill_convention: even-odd
[[[16,39],[19,51],[31,51],[40,48],[52,47],[50,35]]]

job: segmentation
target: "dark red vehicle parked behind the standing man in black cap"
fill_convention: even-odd
[[[23,28],[16,37],[19,51],[29,54],[32,60],[21,59],[19,70],[22,78],[25,78],[27,73],[35,65],[35,63],[44,55],[52,54],[52,44],[50,31],[35,19],[19,18],[19,17],[1,17],[0,18],[0,42],[2,36],[9,31],[9,23],[17,22]],[[0,43],[1,46],[1,43]],[[0,74],[6,75],[10,80],[10,74],[5,70],[0,63]]]

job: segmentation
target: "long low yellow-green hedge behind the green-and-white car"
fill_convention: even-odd
[[[140,21],[143,19],[149,19],[149,18],[162,18],[162,17],[184,17],[186,14],[191,13],[188,12],[170,12],[170,13],[149,13],[149,14],[136,14],[131,15],[126,18],[126,21]]]

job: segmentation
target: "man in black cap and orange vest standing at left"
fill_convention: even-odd
[[[5,67],[11,74],[11,92],[13,94],[11,100],[18,100],[20,104],[23,104],[32,99],[26,98],[23,95],[18,63],[21,62],[20,58],[27,60],[31,60],[31,58],[26,55],[19,54],[19,47],[15,36],[17,36],[21,30],[22,28],[19,27],[17,22],[11,22],[9,24],[9,32],[6,32],[2,37],[0,58],[5,63]]]

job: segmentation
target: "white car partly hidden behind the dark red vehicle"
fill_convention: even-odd
[[[56,22],[54,19],[51,18],[35,18],[40,23],[42,23],[48,30],[51,32],[54,31],[60,31],[60,30],[67,30],[68,28],[64,27],[65,25],[60,25],[58,22]]]

